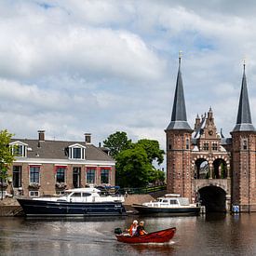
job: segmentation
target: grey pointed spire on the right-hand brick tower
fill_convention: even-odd
[[[242,87],[240,92],[238,113],[236,118],[236,127],[233,129],[233,131],[255,131],[255,128],[251,123],[251,117],[250,117],[245,61],[244,61],[244,72],[243,72]]]

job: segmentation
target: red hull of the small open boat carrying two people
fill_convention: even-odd
[[[143,236],[124,236],[123,234],[115,236],[117,238],[117,241],[123,243],[166,243],[174,236],[175,232],[176,227],[172,227],[165,230],[149,233]]]

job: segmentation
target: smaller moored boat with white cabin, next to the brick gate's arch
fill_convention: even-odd
[[[189,199],[178,194],[167,194],[155,201],[145,202],[132,207],[140,213],[165,213],[168,215],[197,215],[200,212],[198,204],[190,204]]]

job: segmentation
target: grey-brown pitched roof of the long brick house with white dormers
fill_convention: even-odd
[[[80,144],[86,147],[86,160],[94,161],[114,161],[114,159],[105,154],[100,148],[85,141],[38,141],[28,139],[12,139],[11,142],[20,141],[28,144],[27,157],[44,159],[69,159],[68,147],[74,144]],[[40,145],[40,146],[39,146]]]

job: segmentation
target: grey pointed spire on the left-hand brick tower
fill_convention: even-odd
[[[183,84],[182,84],[182,72],[181,72],[182,52],[179,52],[179,70],[176,81],[175,95],[172,107],[171,121],[168,125],[168,129],[189,129],[187,123],[186,107],[184,100]]]

